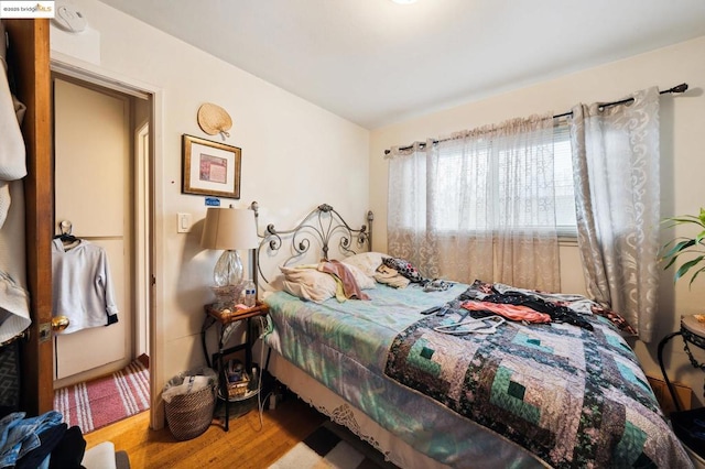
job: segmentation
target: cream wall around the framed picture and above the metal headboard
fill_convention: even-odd
[[[234,127],[225,143],[242,149],[240,200],[257,200],[261,227],[289,228],[322,203],[350,222],[364,222],[369,206],[369,131],[332,114],[239,68],[205,54],[104,3],[75,0],[90,31],[70,47],[52,33],[52,57],[94,73],[124,77],[158,89],[155,170],[158,209],[156,325],[163,383],[177,372],[204,363],[199,331],[204,305],[219,252],[200,249],[204,197],[181,193],[183,133],[220,141],[198,127],[204,102],[224,107]],[[207,34],[207,32],[204,32]],[[99,62],[95,62],[95,51]],[[88,53],[84,54],[85,51]],[[87,61],[87,62],[85,62]],[[193,214],[187,234],[176,232],[176,214]]]

